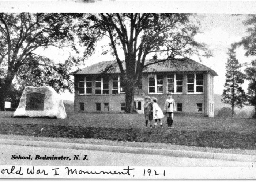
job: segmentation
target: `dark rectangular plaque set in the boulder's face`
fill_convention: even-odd
[[[27,94],[26,99],[26,111],[43,111],[44,110],[44,102],[45,102],[45,94],[40,93],[31,93]]]

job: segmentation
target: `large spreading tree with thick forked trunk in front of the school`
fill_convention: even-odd
[[[81,41],[87,47],[84,56],[87,58],[94,53],[99,40],[109,39],[111,53],[124,80],[125,112],[134,111],[135,88],[141,82],[144,67],[176,56],[211,55],[204,44],[194,39],[199,27],[193,16],[152,13],[84,15],[79,31]],[[118,51],[120,49],[122,53]],[[120,54],[123,54],[124,64]],[[159,56],[164,59],[157,59]],[[147,61],[146,58],[153,59]]]

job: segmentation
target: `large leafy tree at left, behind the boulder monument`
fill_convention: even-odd
[[[57,82],[58,77],[55,79],[53,76],[61,75],[69,80],[65,77],[67,73],[63,65],[39,56],[35,51],[49,46],[71,46],[75,49],[72,43],[72,16],[60,13],[0,13],[0,111],[4,110],[5,97],[15,76],[18,79],[23,76],[30,81],[38,79],[38,82],[45,76],[49,81],[52,76],[51,80]]]

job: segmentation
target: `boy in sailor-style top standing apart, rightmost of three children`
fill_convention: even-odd
[[[164,111],[165,113],[167,112],[168,116],[167,116],[167,124],[169,128],[173,128],[173,112],[176,111],[175,108],[175,102],[172,99],[172,94],[168,93],[167,94],[167,100],[165,101],[165,107],[164,107]]]

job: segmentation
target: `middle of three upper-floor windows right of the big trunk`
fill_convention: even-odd
[[[183,75],[182,74],[167,75],[167,92],[172,92],[172,93],[183,92]]]

